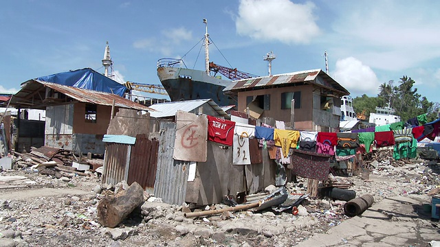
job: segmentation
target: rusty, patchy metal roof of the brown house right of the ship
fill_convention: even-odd
[[[326,89],[335,90],[342,95],[349,95],[349,91],[347,89],[336,82],[336,80],[333,80],[333,78],[331,78],[321,69],[235,80],[226,86],[223,91],[226,93],[239,92],[246,91],[246,89],[263,89],[278,85],[290,86],[301,82],[315,84],[317,86],[325,87]]]

